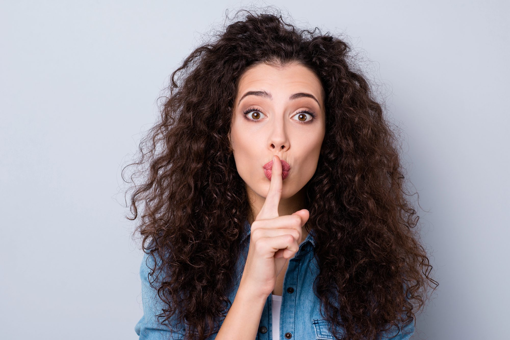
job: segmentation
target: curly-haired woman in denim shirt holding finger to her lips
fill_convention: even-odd
[[[414,332],[435,281],[394,135],[348,52],[248,13],[172,74],[131,199],[141,339]]]

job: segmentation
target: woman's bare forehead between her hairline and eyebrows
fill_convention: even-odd
[[[251,67],[239,79],[237,97],[247,91],[267,91],[273,96],[304,92],[323,100],[317,75],[297,63],[285,66],[263,63]]]

